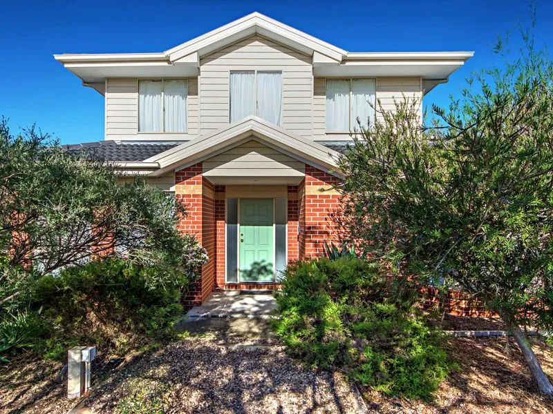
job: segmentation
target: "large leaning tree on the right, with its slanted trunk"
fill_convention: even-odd
[[[543,393],[553,387],[521,326],[553,328],[553,64],[527,48],[474,75],[420,127],[417,103],[362,130],[339,159],[353,237],[496,311]],[[503,55],[502,42],[496,52]]]

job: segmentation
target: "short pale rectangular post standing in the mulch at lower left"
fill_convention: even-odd
[[[91,388],[91,362],[96,357],[94,346],[73,346],[67,357],[67,397],[88,394]]]

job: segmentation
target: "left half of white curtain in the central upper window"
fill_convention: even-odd
[[[255,72],[230,72],[230,121],[255,115]]]

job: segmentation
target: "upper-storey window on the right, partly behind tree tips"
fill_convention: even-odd
[[[375,120],[375,79],[326,79],[326,130],[350,132]]]

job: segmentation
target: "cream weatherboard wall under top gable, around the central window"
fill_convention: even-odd
[[[229,73],[232,70],[281,70],[282,126],[312,135],[311,57],[254,35],[200,59],[200,134],[229,124]]]

